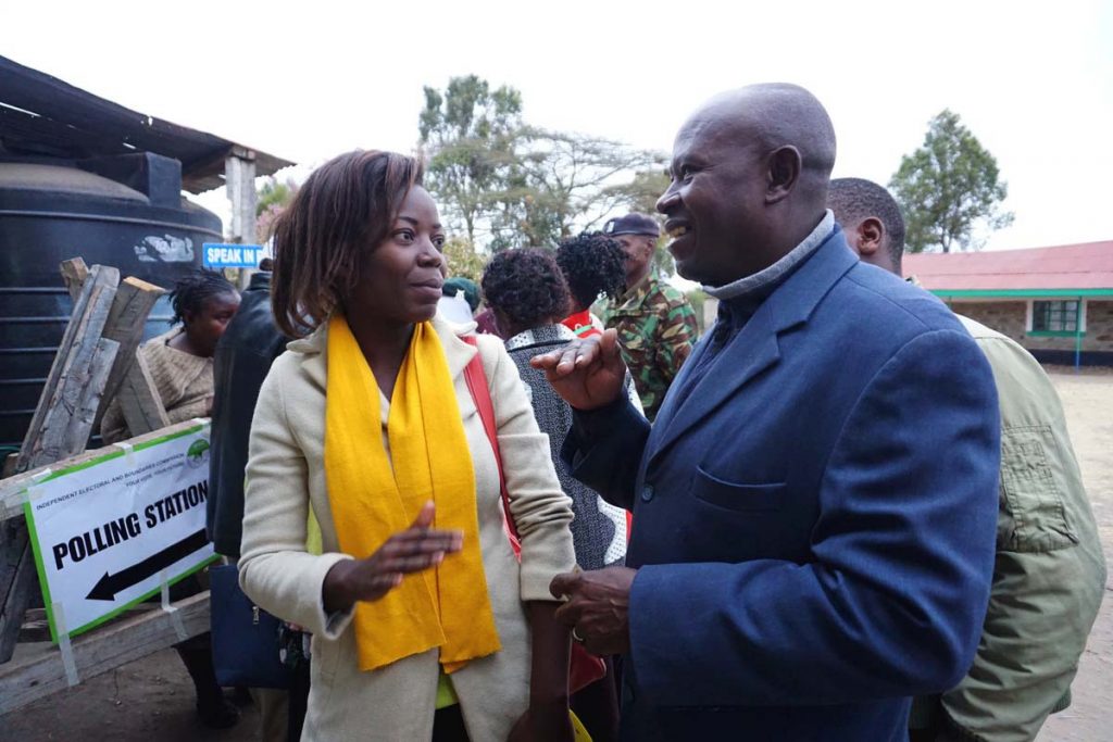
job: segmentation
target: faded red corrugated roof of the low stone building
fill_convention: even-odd
[[[1113,291],[1113,240],[987,253],[904,256],[904,273],[932,291]]]

